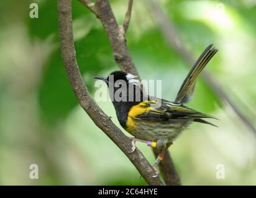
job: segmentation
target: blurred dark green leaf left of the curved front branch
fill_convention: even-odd
[[[77,105],[66,76],[60,49],[53,53],[48,62],[40,87],[39,101],[43,119],[50,124],[65,117]]]

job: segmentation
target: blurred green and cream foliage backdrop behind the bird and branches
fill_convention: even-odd
[[[39,19],[29,17],[32,2],[39,4]],[[127,3],[111,1],[119,24]],[[206,71],[256,127],[256,1],[158,3],[194,58],[210,43],[219,49]],[[57,1],[5,0],[0,11],[0,184],[146,184],[71,91],[60,56]],[[189,67],[153,19],[147,0],[135,0],[127,45],[142,79],[162,79],[163,98],[173,100]],[[93,76],[119,67],[101,23],[75,0],[73,29],[78,64],[93,96]],[[99,106],[120,126],[111,102]],[[188,106],[220,120],[213,121],[218,128],[191,125],[171,146],[182,183],[255,185],[255,134],[202,79]],[[138,147],[153,163],[152,150]],[[39,166],[39,179],[29,178],[32,163]],[[219,164],[225,179],[216,178]]]

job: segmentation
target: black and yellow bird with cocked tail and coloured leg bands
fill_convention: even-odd
[[[130,152],[136,149],[135,142],[144,142],[161,150],[152,165],[157,172],[156,176],[159,173],[157,166],[168,147],[190,124],[198,122],[216,126],[205,120],[214,116],[193,110],[184,104],[190,101],[199,74],[217,51],[213,44],[204,49],[181,84],[175,101],[147,95],[139,77],[127,72],[114,71],[107,77],[94,77],[106,82],[119,123],[134,136],[129,137],[132,140]]]

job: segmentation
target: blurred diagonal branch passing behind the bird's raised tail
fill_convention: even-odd
[[[183,44],[178,33],[175,30],[175,26],[171,20],[164,14],[162,9],[158,6],[157,3],[153,0],[147,0],[146,3],[149,6],[150,13],[153,14],[153,18],[156,19],[158,26],[162,32],[163,37],[167,41],[167,43],[173,47],[190,66],[193,66],[195,59],[193,56],[183,48]],[[221,86],[214,80],[213,76],[206,71],[202,73],[204,81],[213,89],[216,95],[222,100],[226,101],[231,108],[235,111],[237,116],[244,122],[245,126],[249,128],[250,131],[256,134],[256,129],[252,123],[250,123],[249,119],[247,119],[244,114],[235,106],[232,100],[228,97],[228,95],[224,92]]]

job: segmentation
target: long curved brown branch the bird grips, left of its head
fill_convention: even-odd
[[[139,150],[136,149],[134,152],[129,153],[132,148],[130,140],[112,123],[111,119],[109,119],[89,95],[76,62],[71,18],[71,0],[58,0],[58,22],[60,27],[60,48],[66,73],[81,107],[86,111],[96,126],[126,154],[147,183],[150,185],[162,185],[163,183],[159,177],[153,178],[155,171]]]

